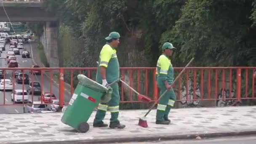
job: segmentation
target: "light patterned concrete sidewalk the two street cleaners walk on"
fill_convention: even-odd
[[[156,125],[156,111],[152,110],[147,116],[149,127],[142,128],[137,124],[146,112],[120,111],[120,121],[126,125],[124,129],[93,128],[93,112],[87,133],[77,133],[61,123],[63,113],[0,115],[0,143],[115,143],[256,133],[256,106],[172,109],[170,125]],[[109,117],[108,113],[105,123],[109,123]]]

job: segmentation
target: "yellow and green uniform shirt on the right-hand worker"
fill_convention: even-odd
[[[164,85],[165,80],[169,84],[173,83],[173,65],[171,64],[171,59],[165,54],[158,58],[156,75],[158,85]]]

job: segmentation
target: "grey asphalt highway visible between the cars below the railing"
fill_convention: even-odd
[[[16,55],[17,61],[19,62],[19,67],[32,67],[33,60],[32,60],[32,45],[30,43],[28,44],[24,44],[24,48],[27,49],[27,51],[29,51],[30,53],[30,58],[22,58],[21,54],[23,49],[20,49],[20,55]],[[8,52],[9,49],[9,44],[5,45],[5,51],[3,51],[2,55],[1,55],[1,59],[0,59],[0,67],[8,67],[7,65],[7,60],[3,59],[6,58],[6,53]],[[34,48],[35,49],[35,48]],[[40,59],[40,58],[38,58]],[[17,68],[19,69],[19,68]],[[25,73],[27,75],[29,75],[29,81],[38,81],[41,84],[41,88],[42,88],[42,82],[41,82],[41,75],[31,75],[29,73],[29,70],[25,70]],[[27,87],[28,84],[22,85],[22,84],[17,84],[14,77],[12,76],[12,70],[7,70],[5,73],[5,79],[11,79],[12,82],[14,83],[14,89],[23,89],[24,91],[27,91]],[[52,84],[51,84],[52,83]],[[50,85],[52,85],[52,88],[50,88]],[[44,92],[52,92],[55,94],[55,96],[57,97],[57,99],[59,99],[59,86],[53,82],[53,80],[50,80],[50,77],[47,75],[43,75],[43,88],[42,90]],[[21,105],[11,105],[11,106],[7,106],[6,104],[13,104],[13,101],[11,101],[11,93],[12,91],[0,91],[0,114],[15,114],[15,113],[24,113],[24,106],[23,104]],[[67,93],[66,91],[64,91],[64,101],[65,102],[69,102],[70,99],[70,95],[69,93]],[[40,96],[32,96],[29,95],[29,99],[30,101],[38,101],[40,98]]]

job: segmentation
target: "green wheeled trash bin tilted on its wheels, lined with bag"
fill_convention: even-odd
[[[109,101],[113,90],[111,87],[107,88],[96,83],[85,75],[78,75],[77,78],[79,83],[61,118],[61,122],[85,133],[89,130],[87,121],[94,107],[100,101]]]

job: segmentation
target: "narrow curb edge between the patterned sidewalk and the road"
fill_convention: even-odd
[[[109,136],[88,138],[87,140],[61,140],[61,141],[43,141],[43,142],[27,142],[26,144],[109,144],[109,143],[123,143],[123,142],[145,142],[145,141],[167,141],[167,140],[181,140],[181,139],[196,139],[197,136],[203,138],[227,137],[227,136],[244,136],[255,135],[256,131],[240,131],[240,132],[221,132],[221,133],[201,133],[201,134],[186,134],[186,135],[170,135],[157,134],[157,135],[142,135],[142,136]],[[200,141],[200,140],[198,140]]]

